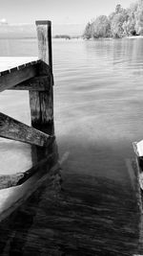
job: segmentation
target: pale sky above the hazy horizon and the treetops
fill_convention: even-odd
[[[50,19],[54,24],[85,24],[100,14],[110,14],[117,4],[127,8],[133,0],[0,0],[0,20],[34,23]]]

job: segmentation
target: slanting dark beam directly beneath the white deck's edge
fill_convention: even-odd
[[[36,75],[37,64],[26,66],[20,70],[17,70],[17,68],[11,69],[10,73],[0,77],[0,92],[9,89],[22,81],[27,81]]]

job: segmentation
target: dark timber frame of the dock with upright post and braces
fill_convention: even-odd
[[[51,21],[36,21],[38,60],[0,73],[0,91],[29,90],[31,127],[0,113],[0,137],[31,144],[33,167],[11,186],[22,184],[39,169],[49,172],[57,160],[53,125]],[[49,164],[48,164],[49,163]],[[9,180],[10,184],[10,180]],[[6,186],[7,187],[7,186]],[[4,188],[3,184],[0,189]]]

